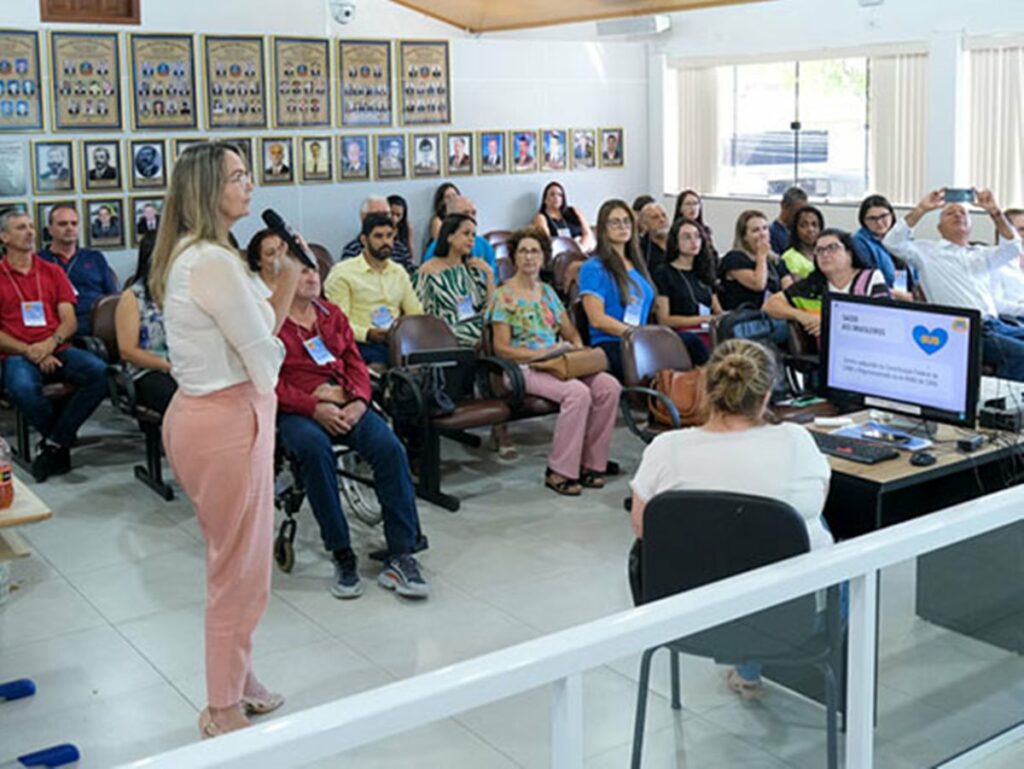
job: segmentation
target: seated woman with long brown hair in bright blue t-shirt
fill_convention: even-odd
[[[622,336],[644,326],[654,287],[640,258],[633,211],[625,201],[606,201],[597,214],[597,249],[580,269],[580,300],[590,342],[608,356],[608,371],[623,380]]]

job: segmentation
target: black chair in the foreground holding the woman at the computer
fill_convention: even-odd
[[[726,492],[666,492],[644,510],[638,603],[724,580],[810,550],[807,526],[784,502]],[[837,715],[843,672],[839,587],[827,590],[824,623],[814,594],[663,644],[672,654],[672,707],[679,710],[679,654],[720,665],[814,665],[825,679],[828,769],[839,765]],[[633,764],[639,769],[650,661],[640,663]]]

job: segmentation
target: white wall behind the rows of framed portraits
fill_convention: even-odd
[[[5,27],[44,28],[39,23],[38,0],[3,0],[3,9]],[[84,25],[52,27],[90,29]],[[564,42],[550,34],[536,36],[528,32],[472,37],[388,0],[357,0],[355,19],[345,26],[330,18],[327,0],[150,0],[142,4],[141,28],[123,29],[197,35],[447,38],[452,41],[454,122],[437,130],[622,126],[626,131],[625,168],[570,171],[559,174],[559,178],[570,203],[592,218],[606,198],[620,196],[632,200],[647,191],[647,53],[643,43]],[[45,39],[43,46],[45,58]],[[198,46],[197,40],[197,54]],[[421,129],[394,127],[377,132],[411,130]],[[290,131],[294,135],[324,132]],[[171,138],[198,132],[144,133]],[[254,135],[281,133],[288,132],[267,129]],[[332,133],[340,131],[335,129]],[[240,132],[232,130],[225,134],[240,135]],[[77,139],[83,135],[86,134],[61,133],[59,137]],[[129,135],[126,131],[121,137],[127,139]],[[32,138],[43,136],[35,134]],[[462,177],[458,183],[464,194],[474,199],[480,228],[486,231],[526,223],[547,181],[547,174],[525,174]],[[359,202],[370,193],[403,196],[410,203],[419,238],[429,218],[428,209],[437,183],[422,179],[262,187],[256,190],[253,210],[268,206],[278,209],[308,240],[323,243],[336,252],[355,233]],[[127,199],[128,193],[124,196]],[[258,218],[253,217],[240,222],[236,234],[245,243],[258,226]],[[125,276],[131,272],[132,252],[110,256],[119,274]]]

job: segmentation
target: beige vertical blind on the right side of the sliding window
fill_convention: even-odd
[[[879,56],[870,63],[868,178],[893,204],[913,204],[925,194],[928,56]]]

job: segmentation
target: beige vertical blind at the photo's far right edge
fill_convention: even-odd
[[[1024,48],[970,52],[970,179],[1004,207],[1024,205]]]

